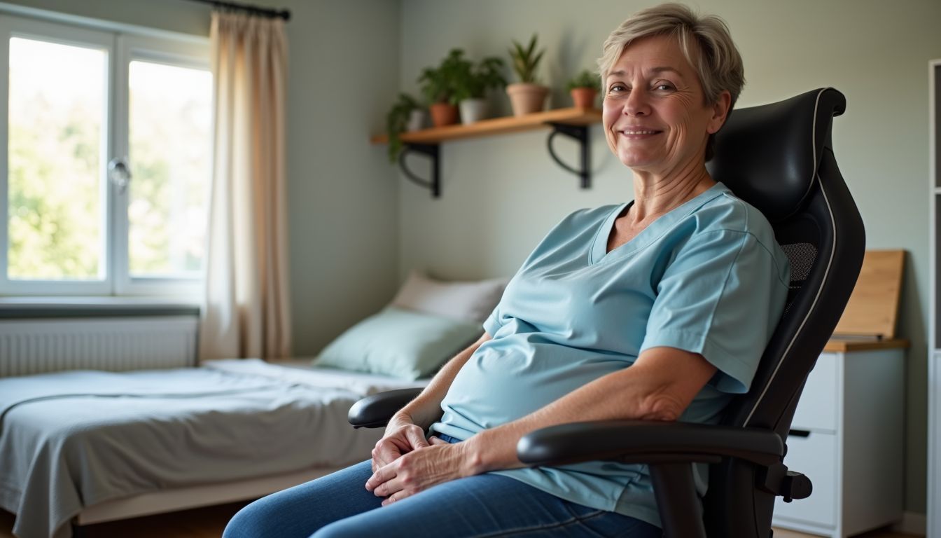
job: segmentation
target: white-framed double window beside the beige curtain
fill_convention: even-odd
[[[198,289],[208,42],[0,20],[0,294]]]

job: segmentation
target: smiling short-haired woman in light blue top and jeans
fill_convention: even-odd
[[[743,84],[726,25],[649,8],[599,66],[633,202],[552,229],[371,461],[256,501],[226,537],[660,535],[646,466],[526,468],[517,442],[581,420],[717,420],[751,383],[789,269],[767,220],[706,170]]]

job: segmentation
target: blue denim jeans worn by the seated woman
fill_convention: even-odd
[[[568,502],[494,474],[447,481],[389,506],[366,491],[369,461],[263,497],[223,538],[660,537],[639,519]]]

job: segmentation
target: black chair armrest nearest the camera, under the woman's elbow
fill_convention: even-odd
[[[726,456],[774,465],[783,453],[781,437],[771,430],[653,420],[560,424],[527,433],[517,444],[519,460],[528,465],[717,463]]]

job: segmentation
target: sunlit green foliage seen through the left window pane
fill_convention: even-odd
[[[8,277],[96,278],[101,122],[80,106],[63,122],[40,101],[9,123]]]

